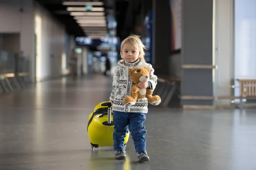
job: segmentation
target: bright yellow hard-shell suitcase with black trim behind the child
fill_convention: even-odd
[[[101,102],[94,108],[88,117],[88,137],[92,149],[97,147],[113,146],[113,112],[111,102]],[[125,136],[126,146],[130,132]]]

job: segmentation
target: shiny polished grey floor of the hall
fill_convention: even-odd
[[[92,152],[87,117],[108,100],[111,79],[94,76],[38,83],[0,96],[0,170],[255,170],[256,110],[182,111],[150,107],[151,161],[127,160],[111,147]]]

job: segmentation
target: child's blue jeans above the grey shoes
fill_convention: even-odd
[[[146,151],[146,139],[145,113],[125,113],[114,111],[113,122],[114,122],[114,150],[124,150],[124,142],[128,129],[131,132],[132,139],[136,152]]]

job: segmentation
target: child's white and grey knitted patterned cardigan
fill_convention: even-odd
[[[120,60],[118,66],[115,69],[113,75],[113,85],[110,99],[113,102],[113,111],[120,111],[126,113],[148,113],[148,99],[138,99],[135,105],[128,106],[124,105],[123,99],[125,96],[131,95],[131,87],[134,83],[131,81],[128,73],[129,68],[148,67],[150,70],[150,79],[148,82],[151,83],[151,89],[157,85],[157,76],[154,75],[154,69],[151,64],[146,63],[143,60],[137,60],[136,62],[129,63],[125,60]]]

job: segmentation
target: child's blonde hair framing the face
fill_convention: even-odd
[[[121,43],[121,50],[120,50],[121,57],[122,57],[123,46],[126,43],[132,45],[134,48],[136,48],[140,52],[139,59],[145,60],[144,59],[144,56],[145,56],[144,49],[146,49],[146,46],[143,45],[142,41],[140,40],[140,36],[130,35],[129,37],[125,38],[125,40],[122,41],[122,43]]]

